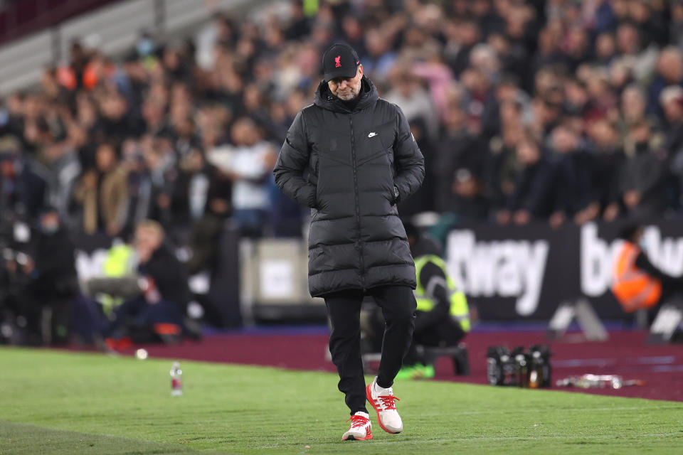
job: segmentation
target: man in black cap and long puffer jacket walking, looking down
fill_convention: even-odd
[[[314,103],[297,114],[275,165],[282,191],[312,208],[309,291],[325,299],[329,350],[351,410],[342,439],[371,439],[366,397],[387,432],[403,429],[391,385],[411,344],[415,265],[396,203],[420,188],[424,159],[406,117],[382,100],[356,52],[332,45]],[[386,330],[377,378],[365,386],[360,309],[382,307]]]

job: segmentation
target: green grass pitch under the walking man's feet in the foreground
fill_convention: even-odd
[[[340,441],[337,376],[0,348],[0,454],[681,454],[683,403],[397,381],[404,432]],[[309,446],[307,448],[306,446]]]

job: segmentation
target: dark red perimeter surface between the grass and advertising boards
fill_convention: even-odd
[[[683,401],[683,345],[646,345],[645,332],[611,332],[605,342],[581,341],[568,335],[549,342],[541,332],[470,333],[465,342],[470,355],[470,376],[455,376],[448,358],[438,360],[436,379],[486,384],[486,350],[488,346],[529,347],[546,343],[553,356],[553,382],[584,373],[621,375],[625,380],[645,380],[645,385],[613,389],[570,390],[621,397]],[[209,362],[270,365],[297,370],[335,371],[325,360],[327,336],[324,335],[244,335],[209,336],[201,342],[185,341],[179,346],[144,345],[122,350],[133,355],[139,347],[152,358],[204,360]]]

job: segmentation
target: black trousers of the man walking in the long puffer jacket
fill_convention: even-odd
[[[367,412],[361,360],[361,304],[365,295],[374,297],[386,321],[377,374],[380,387],[393,384],[393,378],[401,370],[403,357],[411,346],[415,327],[417,304],[410,287],[383,286],[368,289],[365,293],[354,289],[324,296],[332,325],[329,352],[339,372],[339,390],[344,393],[351,414]]]

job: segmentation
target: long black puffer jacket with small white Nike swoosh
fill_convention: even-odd
[[[312,296],[394,284],[415,288],[415,265],[396,210],[420,188],[424,159],[396,105],[372,82],[353,111],[322,82],[295,118],[275,165],[282,191],[312,208]]]

